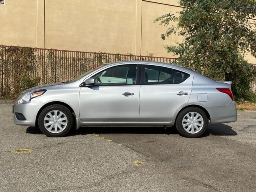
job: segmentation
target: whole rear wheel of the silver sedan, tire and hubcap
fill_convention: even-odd
[[[180,112],[176,119],[176,128],[182,136],[200,137],[208,126],[205,112],[197,107],[188,107]]]

